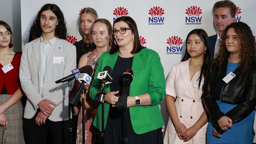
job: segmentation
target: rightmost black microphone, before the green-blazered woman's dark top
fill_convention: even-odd
[[[127,89],[133,79],[134,72],[132,70],[126,69],[125,72],[122,73],[122,81],[124,82],[124,86],[122,87],[122,96],[127,96]]]

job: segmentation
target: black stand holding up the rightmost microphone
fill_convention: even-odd
[[[129,83],[130,83],[129,79],[124,79],[124,86],[122,88],[122,96],[127,97],[127,88],[128,88]],[[122,134],[121,141],[122,141],[123,144],[128,144],[129,140],[128,140],[128,137],[127,137],[127,133],[128,133],[128,129],[127,129],[127,107],[124,109],[123,120],[124,120],[124,129],[123,129],[123,134]]]

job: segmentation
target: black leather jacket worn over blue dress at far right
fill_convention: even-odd
[[[253,111],[256,105],[256,59],[253,59],[244,73],[238,67],[234,71],[236,77],[226,84],[222,79],[226,76],[227,64],[228,60],[226,59],[220,71],[216,64],[210,64],[202,87],[201,98],[211,118],[211,123],[215,126],[223,116],[231,118],[232,123],[240,122]],[[215,100],[220,100],[223,87],[221,102],[237,104],[226,114],[220,111],[215,102]]]

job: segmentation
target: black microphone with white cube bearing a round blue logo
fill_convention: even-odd
[[[84,68],[83,68],[84,67]],[[82,74],[80,74],[78,80],[81,81],[78,92],[72,94],[70,98],[70,102],[72,105],[77,106],[80,100],[80,92],[83,89],[84,85],[88,85],[91,82],[91,75],[93,74],[93,68],[91,66],[83,66],[83,70],[81,70]]]

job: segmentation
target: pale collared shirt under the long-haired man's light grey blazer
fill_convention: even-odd
[[[50,55],[52,53],[53,46],[57,40],[56,37],[52,38],[50,41],[45,42],[43,37],[41,36],[40,42],[40,87],[39,93],[43,97],[43,87],[44,87],[44,79],[45,79],[45,71],[49,62]]]

